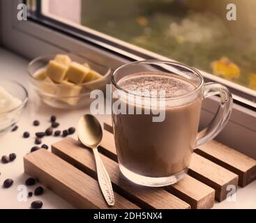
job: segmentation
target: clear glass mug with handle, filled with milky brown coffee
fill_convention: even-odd
[[[156,113],[143,113],[146,110],[143,102],[149,100],[149,95],[127,91],[119,84],[134,74],[156,78],[159,74],[171,75],[193,84],[194,88],[182,95],[166,94],[156,98],[158,105],[160,100],[165,100],[164,107],[156,107],[159,114],[165,112],[165,118],[153,122]],[[143,79],[142,83],[136,84],[143,86]],[[197,133],[202,100],[212,95],[220,96],[220,107],[208,127]],[[130,96],[135,100],[128,99]],[[142,113],[117,112],[114,109],[116,100],[120,101],[119,107],[131,106],[133,111],[140,107]],[[112,75],[112,124],[121,173],[134,183],[151,187],[172,185],[181,180],[188,171],[194,148],[216,137],[225,127],[232,102],[232,95],[225,86],[212,82],[205,84],[197,70],[181,63],[148,60],[120,66]]]

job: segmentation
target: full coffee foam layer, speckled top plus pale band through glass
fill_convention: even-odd
[[[189,80],[165,72],[135,73],[119,80],[117,84],[128,93],[135,95],[135,98],[137,96],[146,96],[142,103],[137,100],[137,106],[142,107],[151,107],[151,98],[156,98],[157,100],[164,98],[166,107],[188,105],[197,99],[197,94],[194,93],[186,97],[176,98],[194,91],[196,86]],[[163,95],[161,91],[165,91],[165,94]],[[123,94],[121,99],[127,102],[127,95]]]

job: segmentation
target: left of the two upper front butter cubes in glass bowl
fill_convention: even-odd
[[[61,83],[66,77],[67,68],[67,66],[64,66],[59,62],[50,61],[45,74],[47,77],[50,77],[50,79],[52,79],[54,82]]]

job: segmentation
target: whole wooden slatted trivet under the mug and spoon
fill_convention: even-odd
[[[100,157],[110,174],[116,203],[113,208],[211,208],[214,198],[223,201],[228,185],[245,186],[256,178],[256,161],[216,141],[200,146],[190,162],[188,175],[175,185],[142,187],[119,171],[112,123],[104,124]],[[91,149],[66,138],[24,157],[24,170],[38,178],[77,208],[110,208],[97,182]]]

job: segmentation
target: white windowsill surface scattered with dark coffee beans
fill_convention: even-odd
[[[45,130],[49,125],[49,119],[52,114],[58,118],[60,130],[76,126],[78,118],[82,114],[89,112],[89,107],[79,110],[60,110],[53,109],[40,102],[38,96],[31,91],[27,79],[26,68],[29,61],[23,59],[16,54],[13,54],[6,49],[0,48],[0,77],[1,79],[11,78],[16,79],[29,90],[29,104],[24,111],[20,122],[17,124],[19,129],[16,132],[9,132],[0,136],[0,157],[10,153],[16,153],[17,158],[14,162],[8,164],[0,163],[0,209],[1,208],[29,208],[30,203],[35,200],[43,201],[43,208],[73,208],[68,202],[61,199],[61,197],[54,194],[50,190],[45,190],[45,193],[40,197],[33,196],[28,198],[27,201],[18,201],[17,196],[20,191],[17,191],[19,185],[24,185],[25,180],[29,177],[24,174],[23,156],[29,153],[30,148],[34,146],[34,133],[40,130]],[[98,116],[103,122],[107,115]],[[40,126],[35,127],[32,125],[33,120],[39,120]],[[31,133],[29,139],[23,139],[22,134],[24,131]],[[77,134],[73,137],[77,138]],[[54,141],[59,138],[45,137],[43,143],[50,146]],[[8,189],[1,187],[3,180],[12,178],[14,180],[13,186]],[[28,191],[33,191],[34,185],[28,187]],[[216,202],[214,208],[256,208],[256,180],[250,183],[245,188],[239,188],[236,193],[236,201],[223,201]]]

